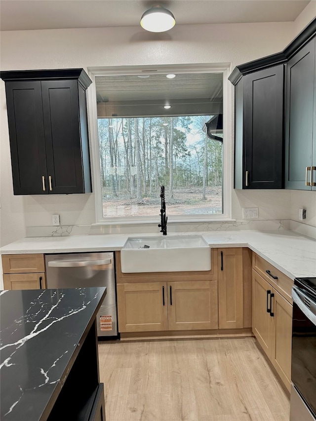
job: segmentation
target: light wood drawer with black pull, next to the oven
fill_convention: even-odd
[[[284,273],[276,269],[256,253],[252,253],[252,268],[269,282],[285,300],[292,304],[291,290],[292,285],[294,284],[292,279],[284,275]],[[270,271],[270,273],[268,273],[267,270]],[[277,279],[274,279],[273,276]]]

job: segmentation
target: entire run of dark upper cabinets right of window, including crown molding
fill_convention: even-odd
[[[282,52],[239,65],[228,78],[235,189],[316,190],[315,34],[316,19]]]

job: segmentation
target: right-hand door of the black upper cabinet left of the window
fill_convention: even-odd
[[[79,97],[76,80],[41,82],[50,193],[83,193]]]

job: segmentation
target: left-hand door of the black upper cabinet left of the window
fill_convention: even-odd
[[[47,194],[40,81],[5,84],[14,194]]]

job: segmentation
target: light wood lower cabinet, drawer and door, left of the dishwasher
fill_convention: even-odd
[[[4,289],[46,288],[43,254],[2,255]]]

